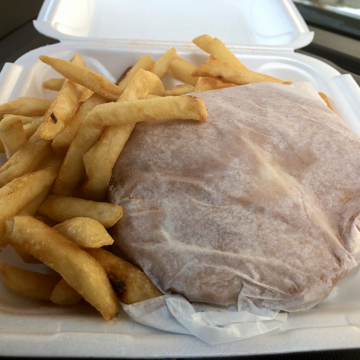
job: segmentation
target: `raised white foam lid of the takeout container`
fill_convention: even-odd
[[[45,0],[37,31],[60,41],[185,42],[294,50],[314,34],[291,0]]]

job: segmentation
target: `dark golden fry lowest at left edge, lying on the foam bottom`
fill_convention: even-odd
[[[53,289],[61,279],[60,276],[35,273],[6,263],[0,264],[0,274],[15,294],[36,300],[50,300]]]

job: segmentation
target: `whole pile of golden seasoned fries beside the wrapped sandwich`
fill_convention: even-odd
[[[27,263],[44,263],[59,276],[0,264],[15,293],[56,304],[84,298],[107,320],[130,304],[161,295],[137,267],[102,249],[121,218],[121,206],[105,202],[112,168],[135,123],[206,120],[201,99],[185,94],[253,82],[290,84],[247,69],[217,38],[193,40],[210,54],[199,67],[171,48],[156,61],[148,54],[113,84],[70,60],[40,56],[64,79],[45,81],[55,100],[18,98],[0,105],[0,246],[10,244]],[[166,73],[184,82],[165,90]]]

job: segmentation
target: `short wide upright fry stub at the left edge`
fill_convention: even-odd
[[[5,117],[0,122],[0,139],[9,160],[25,143],[26,135],[21,120],[12,116]]]

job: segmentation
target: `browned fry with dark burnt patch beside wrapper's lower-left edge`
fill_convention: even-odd
[[[86,249],[104,268],[110,282],[125,304],[161,296],[156,286],[137,267],[104,249]]]

